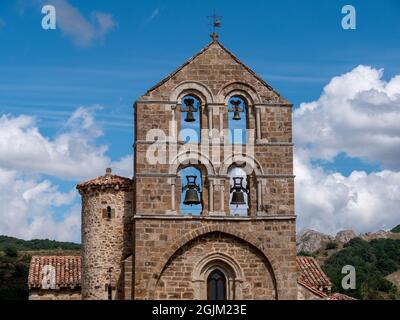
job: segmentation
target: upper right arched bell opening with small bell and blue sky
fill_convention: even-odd
[[[228,103],[229,143],[246,144],[248,108],[244,99],[233,96]]]

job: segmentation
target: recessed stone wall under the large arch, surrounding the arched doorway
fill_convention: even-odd
[[[168,261],[156,284],[156,299],[207,299],[207,276],[195,270],[204,257],[213,254],[215,266],[229,269],[221,257],[236,262],[240,274],[230,276],[231,299],[275,299],[274,276],[265,257],[248,242],[223,233],[204,234],[182,246]],[[214,266],[214,265],[213,265]],[[207,266],[204,266],[207,268]],[[231,268],[233,270],[233,268]],[[206,270],[205,270],[206,271]]]

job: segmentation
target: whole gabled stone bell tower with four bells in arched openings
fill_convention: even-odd
[[[292,105],[214,36],[134,110],[125,298],[296,299]]]

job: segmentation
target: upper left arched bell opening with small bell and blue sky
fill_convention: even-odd
[[[182,98],[180,140],[200,143],[201,103],[192,95]]]

